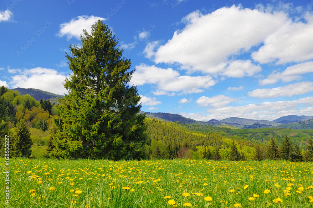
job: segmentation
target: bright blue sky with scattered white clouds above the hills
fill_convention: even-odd
[[[313,115],[311,1],[0,3],[0,85],[64,94],[68,46],[101,19],[142,109],[196,120]]]

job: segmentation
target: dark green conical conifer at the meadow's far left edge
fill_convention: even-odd
[[[26,126],[26,122],[21,119],[16,124],[16,136],[13,137],[13,154],[16,157],[29,157],[31,155],[30,148],[33,143],[30,138],[29,129]]]

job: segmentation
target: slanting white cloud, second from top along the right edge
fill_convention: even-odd
[[[276,72],[276,70],[274,70],[271,74],[267,76],[266,79],[260,79],[259,84],[275,84],[279,80],[281,80],[282,82],[291,82],[294,80],[299,81],[300,79],[302,79],[301,74],[306,74],[310,72],[313,72],[313,61],[295,64],[293,66],[287,67],[283,72]]]

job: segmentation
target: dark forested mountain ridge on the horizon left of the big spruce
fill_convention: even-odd
[[[58,103],[57,97],[59,98],[64,98],[63,95],[58,95],[54,93],[50,93],[47,91],[43,91],[40,89],[33,89],[33,88],[15,88],[12,89],[13,91],[17,90],[20,95],[24,94],[29,94],[32,96],[34,99],[39,101],[41,98],[44,99],[49,99],[51,103]]]

